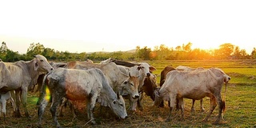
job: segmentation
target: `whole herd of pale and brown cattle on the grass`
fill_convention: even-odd
[[[20,114],[20,104],[24,107],[26,117],[30,117],[26,109],[28,90],[34,90],[38,85],[38,126],[42,123],[42,114],[48,104],[54,125],[58,123],[57,107],[69,101],[86,101],[87,116],[90,122],[94,121],[94,106],[99,102],[101,106],[108,106],[119,118],[126,118],[126,104],[123,98],[129,99],[130,110],[142,110],[143,94],[150,96],[155,106],[162,107],[163,101],[168,101],[171,112],[176,107],[184,114],[183,98],[193,100],[191,110],[194,110],[194,101],[210,98],[210,111],[204,121],[218,105],[218,117],[215,123],[222,118],[225,110],[225,94],[222,99],[223,82],[227,83],[230,77],[221,69],[210,68],[193,69],[187,66],[176,68],[166,66],[161,72],[160,87],[153,74],[154,66],[146,62],[123,62],[107,59],[100,63],[86,62],[48,62],[42,55],[35,55],[28,62],[0,62],[0,102],[4,121],[6,122],[6,100],[10,99],[14,114]],[[46,86],[50,90],[51,101],[46,98]],[[225,90],[226,92],[226,90]],[[71,105],[72,106],[72,105]],[[74,108],[74,107],[71,107]],[[74,109],[72,110],[73,114]],[[0,113],[0,114],[1,114]],[[62,109],[59,114],[62,113]],[[74,115],[75,116],[75,115]]]

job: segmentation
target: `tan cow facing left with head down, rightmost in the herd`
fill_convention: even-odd
[[[210,98],[210,111],[204,121],[210,118],[218,104],[218,117],[215,123],[220,121],[222,110],[225,110],[225,98],[222,100],[221,91],[223,82],[228,82],[230,77],[218,68],[209,70],[194,70],[190,72],[180,72],[177,70],[170,71],[166,75],[166,82],[162,88],[155,91],[156,98],[154,104],[158,106],[162,100],[170,101],[170,115],[175,106],[176,99],[182,107],[182,117],[184,116],[183,98],[202,99]],[[225,91],[226,92],[226,91]]]

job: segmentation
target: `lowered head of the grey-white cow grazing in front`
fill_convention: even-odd
[[[114,114],[118,115],[120,118],[126,118],[126,103],[123,100],[122,96],[117,94],[117,98],[115,98],[112,102],[110,102],[110,109],[114,111]]]

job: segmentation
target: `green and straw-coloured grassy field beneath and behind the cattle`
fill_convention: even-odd
[[[219,67],[230,75],[230,84],[226,91],[226,112],[224,114],[225,121],[221,121],[218,125],[213,125],[215,116],[218,114],[218,109],[214,110],[208,122],[202,122],[209,110],[209,98],[204,98],[204,107],[206,112],[200,112],[199,101],[195,103],[196,111],[190,112],[191,100],[185,99],[185,118],[181,120],[180,112],[174,112],[172,121],[165,122],[169,114],[169,108],[158,108],[153,106],[153,101],[149,97],[145,97],[142,102],[144,110],[132,112],[127,110],[129,118],[118,119],[110,109],[100,109],[97,105],[94,112],[94,118],[98,123],[91,126],[86,117],[84,105],[78,108],[78,118],[73,119],[68,107],[64,110],[64,117],[58,117],[58,121],[63,127],[255,127],[256,126],[256,60],[234,60],[234,61],[157,61],[149,62],[150,65],[158,70],[154,74],[158,75],[165,66],[190,66],[190,67]],[[222,92],[224,92],[224,87]],[[29,93],[28,109],[31,115],[30,119],[25,118],[22,110],[22,118],[14,118],[10,103],[7,104],[5,124],[0,120],[0,127],[37,127],[38,116],[37,106],[35,103],[38,99],[38,93]],[[52,118],[50,114],[50,105],[46,108],[43,115],[42,126],[52,126]],[[126,102],[126,108],[129,108]],[[1,118],[2,119],[2,118]]]

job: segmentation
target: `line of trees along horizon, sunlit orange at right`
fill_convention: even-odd
[[[48,60],[54,62],[69,62],[72,60],[102,61],[107,58],[118,60],[139,61],[139,60],[206,60],[206,59],[255,59],[256,49],[251,54],[246,54],[246,50],[241,50],[239,46],[231,43],[223,43],[215,50],[191,49],[192,43],[182,44],[182,46],[167,47],[165,45],[155,46],[151,50],[147,46],[136,46],[134,52],[94,52],[94,53],[70,53],[69,51],[58,51],[46,48],[42,44],[31,43],[26,54],[19,54],[18,51],[8,49],[6,42],[2,42],[0,47],[0,58],[3,62],[17,62],[19,60],[28,61],[34,58],[35,54],[42,54]]]

